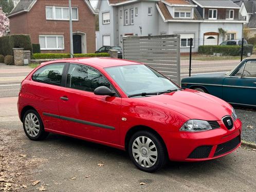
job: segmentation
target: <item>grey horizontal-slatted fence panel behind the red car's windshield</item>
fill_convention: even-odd
[[[146,64],[180,85],[179,35],[123,37],[123,59]]]

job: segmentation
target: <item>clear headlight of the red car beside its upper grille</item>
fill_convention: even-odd
[[[189,120],[179,129],[180,131],[206,131],[212,129],[207,121],[203,120]]]

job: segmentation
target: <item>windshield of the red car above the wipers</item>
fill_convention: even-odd
[[[145,65],[124,65],[105,70],[127,95],[179,89],[165,76]]]

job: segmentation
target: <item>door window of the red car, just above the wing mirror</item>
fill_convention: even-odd
[[[99,71],[85,65],[70,64],[67,87],[93,92],[100,86],[111,88],[110,83]]]

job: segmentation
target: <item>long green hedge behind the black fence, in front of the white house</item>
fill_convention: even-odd
[[[253,45],[244,45],[243,54],[252,53]],[[223,55],[236,56],[241,54],[241,46],[236,45],[202,45],[198,46],[199,54],[222,53]]]

